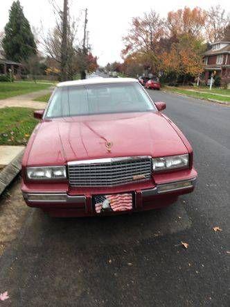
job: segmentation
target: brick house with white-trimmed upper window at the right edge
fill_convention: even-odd
[[[211,74],[220,76],[221,83],[230,84],[230,24],[222,40],[213,42],[204,53],[204,78],[208,83]]]

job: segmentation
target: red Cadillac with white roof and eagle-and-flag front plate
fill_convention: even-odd
[[[59,83],[22,161],[26,204],[53,216],[168,206],[192,192],[193,150],[132,78]]]

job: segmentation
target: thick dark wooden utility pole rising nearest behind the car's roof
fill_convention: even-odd
[[[62,12],[62,49],[61,49],[61,81],[67,81],[67,33],[68,31],[68,0],[64,0]]]

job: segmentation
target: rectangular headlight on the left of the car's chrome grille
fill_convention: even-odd
[[[27,167],[28,179],[66,179],[65,166]]]

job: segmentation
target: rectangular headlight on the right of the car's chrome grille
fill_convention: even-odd
[[[169,169],[181,169],[188,167],[188,154],[179,156],[168,156],[152,159],[152,169],[154,172],[166,171]]]

